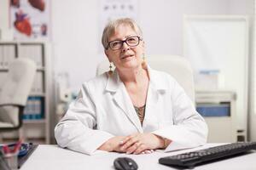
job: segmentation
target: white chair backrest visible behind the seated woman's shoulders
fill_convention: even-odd
[[[195,85],[192,67],[187,59],[177,55],[152,55],[147,57],[148,65],[157,71],[172,75],[195,103]],[[109,70],[108,59],[97,65],[96,75]]]

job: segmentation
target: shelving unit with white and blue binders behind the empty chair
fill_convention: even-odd
[[[36,77],[23,115],[23,126],[18,133],[3,134],[3,139],[19,136],[27,141],[40,139],[41,143],[49,144],[49,47],[48,42],[0,42],[0,91],[13,59],[26,57],[34,60],[37,65]]]

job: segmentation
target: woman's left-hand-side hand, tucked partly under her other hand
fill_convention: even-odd
[[[115,136],[111,139],[108,139],[108,141],[102,144],[98,150],[124,152],[120,149],[120,147],[122,146],[121,141],[123,141],[125,138],[125,136]]]

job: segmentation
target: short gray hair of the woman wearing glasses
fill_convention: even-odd
[[[130,26],[132,30],[136,31],[139,37],[143,37],[143,31],[137,25],[135,20],[131,18],[121,18],[117,20],[111,20],[108,22],[107,26],[105,26],[104,31],[102,33],[102,45],[105,49],[108,48],[108,38],[113,36],[118,26],[125,25]]]

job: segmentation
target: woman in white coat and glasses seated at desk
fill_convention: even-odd
[[[113,20],[102,44],[112,71],[84,82],[78,98],[55,127],[61,147],[151,153],[194,147],[207,141],[207,124],[189,97],[164,72],[143,60],[143,33],[134,20]]]

